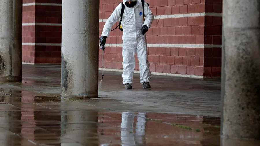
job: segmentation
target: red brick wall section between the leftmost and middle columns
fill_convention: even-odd
[[[62,0],[23,4],[23,62],[61,63]]]

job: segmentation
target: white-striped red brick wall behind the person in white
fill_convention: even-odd
[[[120,2],[122,0],[100,0],[100,19],[107,19]],[[222,17],[214,15],[222,12],[222,1],[146,0],[146,2],[150,4],[154,15],[177,15],[175,18],[155,19],[146,33],[147,44],[161,44],[161,47],[148,47],[151,71],[207,77],[220,76]],[[206,13],[205,15],[210,16],[191,16],[191,13]],[[178,14],[184,16],[180,17]],[[100,35],[104,24],[105,22],[100,22]],[[122,44],[121,36],[122,32],[118,29],[112,31],[107,44]],[[195,45],[162,47],[163,44]],[[102,67],[101,53],[100,50],[100,68]],[[139,70],[137,57],[135,59],[135,70]],[[104,60],[104,68],[122,70],[122,47],[107,47]]]

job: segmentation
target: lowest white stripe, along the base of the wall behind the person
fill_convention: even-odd
[[[102,70],[102,68],[99,68],[99,70]],[[123,72],[123,70],[118,69],[109,69],[104,68],[104,71],[110,71],[110,72]],[[135,74],[139,74],[140,71],[135,70]],[[153,75],[159,75],[159,76],[177,76],[177,77],[186,77],[186,78],[204,78],[203,76],[197,76],[197,75],[187,75],[187,74],[169,74],[169,73],[162,73],[162,72],[152,72]]]

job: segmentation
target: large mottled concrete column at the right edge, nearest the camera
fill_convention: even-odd
[[[259,145],[260,1],[223,1],[222,146]]]

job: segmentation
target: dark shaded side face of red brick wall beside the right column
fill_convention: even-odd
[[[204,0],[205,12],[222,13],[222,0]],[[205,44],[222,43],[222,17],[205,17]],[[204,49],[205,76],[221,76],[221,48]]]

